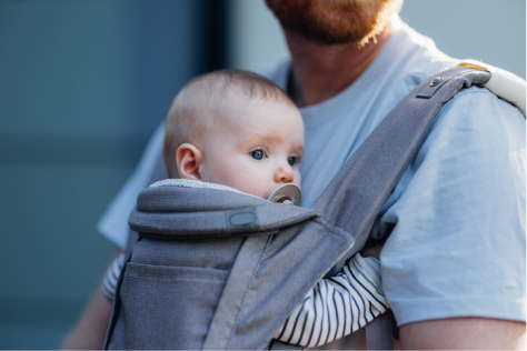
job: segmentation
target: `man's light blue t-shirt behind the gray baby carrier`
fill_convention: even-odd
[[[357,81],[330,100],[300,109],[306,126],[302,205],[314,204],[404,97],[456,63],[430,39],[398,23]],[[286,89],[289,67],[286,62],[267,76]],[[150,154],[161,144],[158,133]],[[99,223],[121,248],[135,204],[129,199],[147,185],[150,158],[143,157]],[[460,92],[434,123],[372,231],[375,238],[391,231],[381,269],[398,323],[467,315],[527,322],[525,210],[527,122],[485,89]]]

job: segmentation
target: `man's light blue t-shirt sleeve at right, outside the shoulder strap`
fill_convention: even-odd
[[[527,121],[481,88],[445,106],[384,208],[380,261],[398,324],[527,322]]]

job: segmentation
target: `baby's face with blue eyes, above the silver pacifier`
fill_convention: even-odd
[[[285,183],[300,187],[304,122],[295,107],[251,99],[227,107],[226,113],[203,138],[202,181],[264,199]]]

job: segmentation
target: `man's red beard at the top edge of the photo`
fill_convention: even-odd
[[[322,44],[359,47],[380,34],[402,0],[266,0],[281,26]]]

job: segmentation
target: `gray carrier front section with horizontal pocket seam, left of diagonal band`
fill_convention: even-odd
[[[200,350],[229,274],[226,268],[241,242],[225,240],[208,257],[199,250],[210,247],[207,240],[169,247],[151,238],[137,242],[141,254],[127,264],[120,294],[123,318],[117,329],[126,331],[125,348],[110,350]]]

